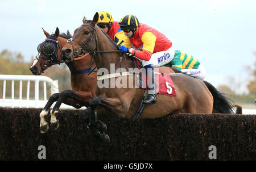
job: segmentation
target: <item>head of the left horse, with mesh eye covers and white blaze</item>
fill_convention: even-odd
[[[56,28],[54,34],[50,35],[43,29],[46,40],[38,45],[38,55],[30,66],[34,75],[40,75],[44,70],[50,68],[52,64],[61,61],[61,48],[59,44],[59,28]]]

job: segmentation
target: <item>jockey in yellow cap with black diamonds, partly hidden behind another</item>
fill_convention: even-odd
[[[125,35],[121,28],[117,26],[118,22],[113,20],[110,12],[100,11],[98,12],[98,16],[97,26],[100,27],[102,31],[107,33],[110,39],[112,39],[117,45],[124,45],[128,48],[131,47],[129,38]]]

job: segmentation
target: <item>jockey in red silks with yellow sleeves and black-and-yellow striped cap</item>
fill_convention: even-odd
[[[119,22],[121,30],[129,37],[130,43],[138,49],[143,45],[142,51],[119,47],[121,52],[130,53],[142,61],[143,68],[152,76],[152,82],[148,83],[148,97],[144,103],[156,103],[155,97],[155,73],[153,66],[168,64],[174,58],[175,50],[172,42],[163,33],[139,23],[134,15],[126,15]]]

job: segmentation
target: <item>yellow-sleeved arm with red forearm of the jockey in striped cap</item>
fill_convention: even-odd
[[[156,36],[152,32],[145,32],[141,40],[143,43],[142,51],[130,49],[130,53],[141,60],[149,61],[154,52]]]

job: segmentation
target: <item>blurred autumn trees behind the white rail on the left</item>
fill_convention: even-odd
[[[30,62],[24,62],[24,57],[21,53],[10,52],[7,49],[0,53],[0,74],[11,74],[11,75],[33,75],[30,71]],[[63,65],[55,65],[47,69],[42,75],[52,78],[53,80],[59,80],[59,91],[71,89],[70,72]],[[15,81],[15,97],[19,95],[19,83]],[[0,90],[2,90],[3,83],[0,82]],[[23,86],[23,97],[26,96],[27,84],[22,83]],[[11,87],[9,82],[6,82],[6,87]],[[42,89],[43,85],[39,84],[39,89]],[[34,97],[34,82],[30,83],[30,98]],[[2,91],[0,97],[2,96]],[[6,97],[11,96],[11,90],[6,90]]]

